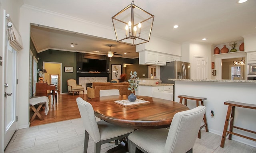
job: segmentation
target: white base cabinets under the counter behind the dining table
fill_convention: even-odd
[[[139,85],[138,86],[138,91],[136,92],[136,95],[152,97],[153,91],[171,92],[171,93],[173,93],[173,85],[166,85],[166,86]]]

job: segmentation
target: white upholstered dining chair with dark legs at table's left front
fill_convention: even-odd
[[[76,98],[76,103],[85,128],[84,153],[87,153],[89,136],[94,141],[94,153],[100,153],[100,146],[104,143],[122,139],[134,131],[132,128],[123,128],[109,124],[104,120],[96,122],[92,105],[81,97]]]

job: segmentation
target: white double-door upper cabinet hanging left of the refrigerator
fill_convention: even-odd
[[[139,64],[166,65],[166,55],[152,51],[141,51],[139,53]]]

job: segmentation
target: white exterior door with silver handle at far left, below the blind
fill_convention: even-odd
[[[9,44],[9,42],[7,42]],[[4,148],[16,131],[16,51],[7,45],[4,76]]]

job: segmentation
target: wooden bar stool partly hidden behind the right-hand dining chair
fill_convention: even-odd
[[[204,100],[206,100],[207,98],[204,97],[194,97],[194,96],[187,96],[187,95],[179,95],[178,98],[180,98],[180,103],[182,104],[182,100],[184,99],[184,105],[187,106],[187,100],[196,100],[196,107],[199,106],[199,101],[201,102],[201,105],[204,106]],[[208,130],[208,126],[207,126],[207,120],[206,120],[206,114],[204,113],[204,125],[202,125],[199,129],[198,132],[198,138],[201,139],[201,129],[205,127],[205,131],[209,132]]]

